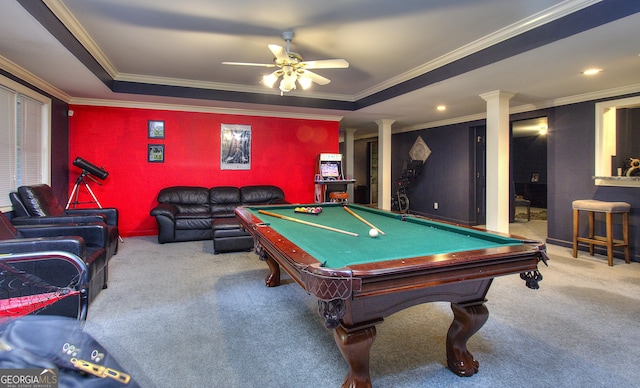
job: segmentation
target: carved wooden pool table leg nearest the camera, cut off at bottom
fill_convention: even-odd
[[[376,327],[347,332],[342,326],[333,331],[333,338],[349,365],[349,373],[342,384],[343,388],[370,388],[369,353],[376,339]]]

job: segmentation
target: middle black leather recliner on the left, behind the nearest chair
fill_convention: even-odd
[[[89,303],[107,288],[107,233],[104,223],[15,227],[0,212],[0,254],[63,251],[78,256],[89,271]],[[61,283],[57,272],[58,268],[49,267],[35,275],[55,285]]]

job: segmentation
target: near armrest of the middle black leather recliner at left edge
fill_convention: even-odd
[[[63,251],[84,258],[85,244],[81,237],[18,238],[0,241],[0,254]]]

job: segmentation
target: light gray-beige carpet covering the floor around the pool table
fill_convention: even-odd
[[[512,224],[546,236],[546,222]],[[288,277],[266,288],[254,253],[210,241],[128,238],[85,330],[143,387],[338,387],[347,371],[316,301]],[[446,367],[447,303],[411,307],[377,326],[374,387],[630,387],[640,349],[640,263],[549,246],[539,290],[497,278],[489,320],[468,343],[469,378]]]

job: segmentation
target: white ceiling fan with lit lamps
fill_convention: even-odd
[[[222,62],[224,65],[239,66],[260,66],[260,67],[276,67],[271,74],[262,77],[262,82],[272,88],[276,81],[282,77],[280,81],[280,94],[289,92],[296,88],[296,81],[302,89],[307,90],[313,82],[319,85],[326,85],[331,80],[309,69],[345,69],[349,67],[349,62],[344,59],[324,59],[319,61],[303,61],[302,56],[298,53],[290,51],[291,40],[293,39],[292,31],[282,33],[282,38],[287,42],[284,48],[277,44],[270,44],[269,50],[273,53],[273,63],[247,63],[247,62]]]

